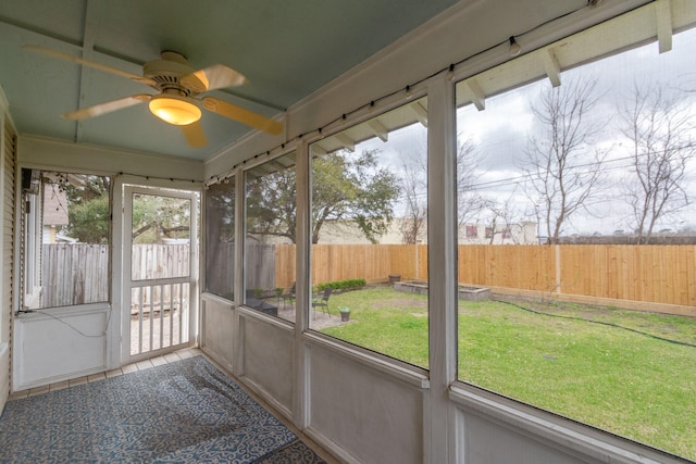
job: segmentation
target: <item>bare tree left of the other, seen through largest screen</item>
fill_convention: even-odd
[[[563,225],[599,193],[606,151],[594,147],[601,126],[588,120],[596,108],[596,80],[569,81],[542,91],[532,112],[544,131],[527,140],[522,168],[527,197],[539,205],[549,243]]]

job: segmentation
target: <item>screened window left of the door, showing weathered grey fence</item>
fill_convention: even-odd
[[[109,301],[111,179],[54,172],[35,178],[36,188],[24,191],[24,304]]]

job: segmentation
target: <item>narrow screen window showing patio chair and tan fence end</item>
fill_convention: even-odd
[[[295,153],[245,173],[246,305],[295,322]]]

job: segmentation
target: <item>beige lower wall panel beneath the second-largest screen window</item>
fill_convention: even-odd
[[[418,373],[307,337],[308,435],[348,462],[420,463],[426,456],[428,381]]]

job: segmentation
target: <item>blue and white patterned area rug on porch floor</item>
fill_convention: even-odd
[[[8,402],[2,463],[324,463],[203,356]]]

